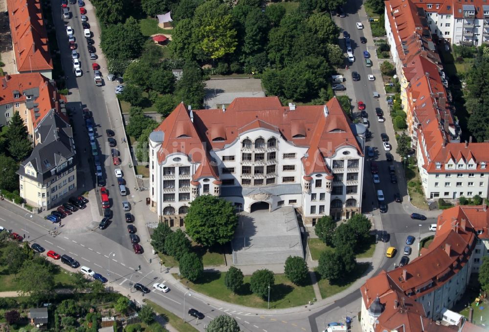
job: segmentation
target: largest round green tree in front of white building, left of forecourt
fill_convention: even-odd
[[[232,203],[211,195],[192,201],[185,216],[187,234],[205,246],[231,241],[237,224],[238,216]]]

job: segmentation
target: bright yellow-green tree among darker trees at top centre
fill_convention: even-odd
[[[238,43],[227,5],[219,0],[205,1],[195,10],[193,20],[194,34],[206,57],[219,59],[234,52]]]

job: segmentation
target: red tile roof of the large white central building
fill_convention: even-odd
[[[156,128],[164,132],[164,141],[158,151],[158,162],[168,155],[192,155],[192,161],[201,163],[200,177],[217,178],[217,170],[205,160],[211,160],[208,151],[223,149],[240,134],[256,128],[280,133],[291,144],[309,147],[302,160],[306,175],[329,173],[324,157],[331,156],[341,146],[354,147],[359,155],[362,149],[350,128],[336,98],[326,105],[282,106],[277,97],[236,98],[226,109],[194,110],[192,118],[183,103]],[[327,116],[325,116],[325,114]],[[200,169],[201,168],[201,169]],[[194,179],[197,177],[194,176]]]

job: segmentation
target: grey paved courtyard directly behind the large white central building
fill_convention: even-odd
[[[205,82],[206,109],[229,105],[237,97],[265,97],[262,81],[256,78],[225,78]]]

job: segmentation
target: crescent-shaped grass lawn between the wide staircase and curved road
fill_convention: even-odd
[[[249,289],[251,276],[244,276],[244,284],[238,294],[233,294],[224,286],[226,272],[204,273],[202,280],[197,283],[185,279],[181,283],[207,296],[229,303],[253,307],[267,308],[267,299],[253,294]],[[290,308],[307,304],[314,298],[311,281],[306,286],[298,287],[292,284],[283,274],[275,274],[275,285],[270,288],[270,309]]]

